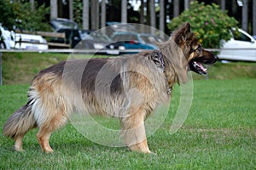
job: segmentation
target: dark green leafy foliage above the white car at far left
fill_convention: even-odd
[[[45,5],[38,6],[35,2],[35,9],[32,10],[31,3],[20,0],[10,2],[9,0],[0,1],[0,22],[3,26],[13,29],[16,26],[20,30],[28,31],[49,31],[49,21],[46,15],[49,8]]]

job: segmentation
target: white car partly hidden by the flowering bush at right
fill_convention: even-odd
[[[246,31],[238,29],[228,42],[221,41],[218,59],[256,61],[256,40]]]

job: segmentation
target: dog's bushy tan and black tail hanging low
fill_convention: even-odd
[[[37,127],[37,123],[32,114],[32,105],[27,103],[9,117],[3,127],[3,135],[14,139],[25,135],[33,127]]]

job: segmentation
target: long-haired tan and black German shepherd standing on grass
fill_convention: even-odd
[[[168,104],[175,83],[187,82],[188,71],[207,74],[203,64],[218,57],[201,47],[189,23],[179,27],[159,49],[115,58],[67,60],[40,71],[28,91],[28,102],[9,117],[3,134],[22,139],[38,127],[42,150],[53,152],[49,138],[74,112],[118,116],[130,150],[150,153],[144,121],[157,105]]]

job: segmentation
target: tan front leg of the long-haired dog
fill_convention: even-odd
[[[147,137],[144,127],[144,117],[146,111],[139,109],[131,116],[125,116],[121,119],[122,135],[125,144],[130,150],[136,150],[143,153],[151,153],[148,149]]]

